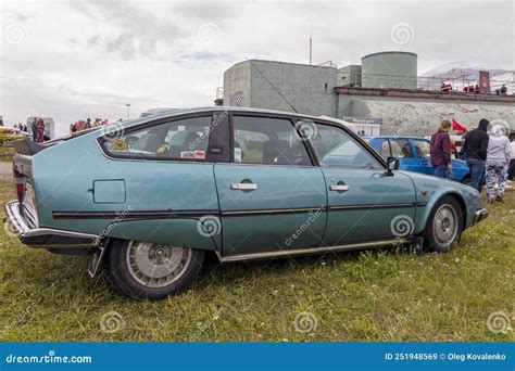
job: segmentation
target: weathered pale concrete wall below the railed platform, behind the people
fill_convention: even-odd
[[[481,118],[503,119],[515,130],[513,103],[339,95],[338,117],[346,116],[382,118],[382,135],[428,136],[453,117],[468,128]]]

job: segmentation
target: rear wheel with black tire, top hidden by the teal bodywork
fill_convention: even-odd
[[[141,254],[140,251],[149,245],[151,246],[149,254],[143,256],[145,254]],[[153,255],[151,255],[152,248]],[[159,257],[158,251],[161,251]],[[163,255],[163,251],[168,252],[168,255],[165,255],[166,253]],[[159,263],[152,263],[153,258],[161,259]],[[145,268],[150,269],[153,276],[159,276],[155,272],[156,269],[164,273],[176,265],[177,268],[168,276],[152,277],[146,273],[146,269],[140,269],[142,263],[138,263],[138,260],[141,259],[145,259],[147,265]],[[115,289],[123,295],[135,299],[160,300],[166,296],[185,292],[191,287],[194,279],[199,276],[203,260],[204,252],[202,250],[126,240],[112,240],[105,252],[105,263]]]

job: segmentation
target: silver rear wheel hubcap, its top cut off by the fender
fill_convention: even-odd
[[[130,241],[126,259],[136,281],[147,287],[162,287],[183,276],[191,260],[191,248]]]

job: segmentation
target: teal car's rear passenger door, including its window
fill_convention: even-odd
[[[288,117],[234,114],[229,163],[214,167],[223,254],[319,246],[324,176]]]

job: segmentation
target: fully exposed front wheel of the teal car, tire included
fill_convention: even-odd
[[[463,232],[462,208],[452,196],[443,196],[432,207],[426,225],[426,250],[450,252]]]

